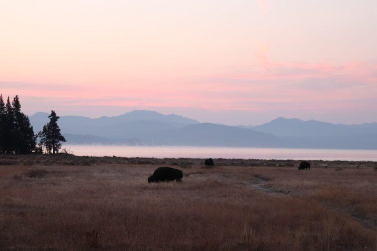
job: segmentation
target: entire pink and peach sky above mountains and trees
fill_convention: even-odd
[[[0,0],[23,110],[377,122],[375,0]]]

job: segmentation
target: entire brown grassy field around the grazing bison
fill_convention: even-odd
[[[1,250],[376,250],[377,163],[0,155]],[[159,166],[181,183],[148,184]]]

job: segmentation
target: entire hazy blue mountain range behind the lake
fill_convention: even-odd
[[[30,116],[34,131],[48,113]],[[225,126],[176,114],[134,110],[112,117],[61,116],[67,144],[377,149],[377,123],[333,124],[279,117],[259,126]]]

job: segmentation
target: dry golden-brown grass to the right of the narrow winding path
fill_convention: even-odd
[[[322,202],[377,227],[377,172],[373,168],[317,168],[300,172],[261,168],[258,172],[268,179],[266,185],[271,189]]]

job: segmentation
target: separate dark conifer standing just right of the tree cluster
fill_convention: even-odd
[[[59,116],[54,110],[48,116],[50,121],[43,126],[43,130],[38,133],[40,138],[40,145],[45,146],[47,153],[58,153],[61,148],[61,143],[66,142],[65,138],[60,133],[60,128],[57,121]]]

